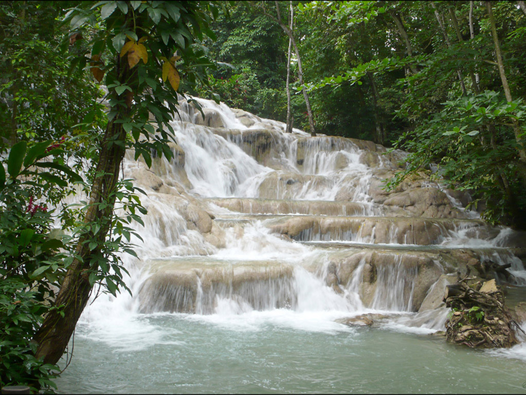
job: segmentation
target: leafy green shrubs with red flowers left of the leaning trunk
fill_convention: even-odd
[[[15,144],[0,163],[0,386],[56,388],[58,367],[35,358],[31,341],[65,274],[69,237],[54,237],[56,185],[82,181],[52,140]],[[7,173],[5,171],[7,168]]]

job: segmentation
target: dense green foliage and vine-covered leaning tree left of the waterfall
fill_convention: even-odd
[[[0,386],[53,387],[92,291],[128,289],[121,254],[146,210],[120,164],[126,148],[148,166],[173,155],[177,95],[207,86],[199,40],[217,7],[0,5]]]

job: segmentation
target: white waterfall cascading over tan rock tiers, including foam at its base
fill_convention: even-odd
[[[362,320],[377,333],[434,333],[444,329],[443,290],[462,262],[510,264],[509,282],[526,285],[523,234],[484,224],[426,179],[382,190],[403,153],[297,129],[286,134],[277,121],[195,101],[204,117],[180,98],[175,160],[154,158],[148,169],[133,153],[125,158],[123,177],[147,192],[140,198],[148,209],[144,227],[133,225],[144,240],[132,240],[138,259],[123,256],[133,297],[102,295],[87,306],[79,321],[86,339],[141,352],[197,342],[203,347],[187,352],[201,355],[237,333],[272,335],[262,349],[291,333],[281,350],[306,334],[369,333],[341,319]],[[229,352],[241,358],[242,343]],[[508,352],[526,360],[523,345]],[[218,358],[230,368],[217,380],[234,374],[228,357]]]

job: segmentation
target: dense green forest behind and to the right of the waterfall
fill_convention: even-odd
[[[289,3],[265,7],[286,18]],[[411,151],[407,170],[387,187],[438,165],[438,175],[471,191],[486,219],[526,227],[519,3],[292,2],[316,129]],[[227,104],[285,121],[288,40],[261,9],[261,2],[235,2],[218,18],[210,53],[233,68],[218,69],[214,81]],[[295,126],[306,129],[296,71],[291,77]]]

